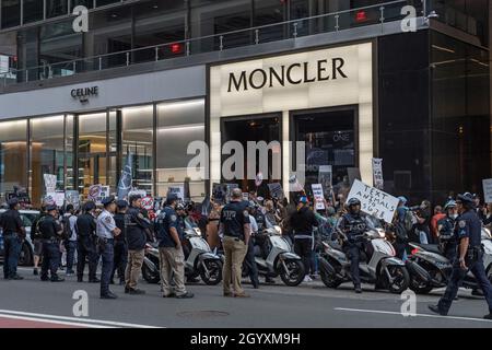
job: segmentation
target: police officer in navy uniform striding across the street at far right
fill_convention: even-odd
[[[453,264],[453,271],[443,298],[437,305],[429,305],[429,308],[442,316],[446,316],[453,300],[458,293],[458,288],[471,270],[477,282],[481,287],[489,305],[489,314],[483,316],[492,319],[492,287],[483,267],[483,247],[481,245],[481,222],[473,208],[473,197],[459,195],[456,205],[459,217],[456,219],[455,237],[458,243],[458,256]]]

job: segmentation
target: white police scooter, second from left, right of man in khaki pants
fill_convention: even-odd
[[[289,287],[298,285],[304,279],[304,265],[298,255],[292,253],[288,241],[282,236],[280,226],[271,226],[261,232],[267,235],[268,255],[265,258],[261,249],[255,244],[255,262],[258,275],[276,278],[280,276]],[[243,264],[243,277],[248,276],[248,266]]]

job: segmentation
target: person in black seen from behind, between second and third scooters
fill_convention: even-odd
[[[294,252],[303,259],[304,281],[309,282],[309,269],[313,258],[313,229],[318,221],[309,209],[307,197],[302,196],[297,203],[297,211],[291,217],[291,228],[294,231]]]

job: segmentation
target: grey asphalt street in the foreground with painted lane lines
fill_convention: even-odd
[[[161,298],[160,285],[141,281],[145,295],[125,294],[122,287],[113,285],[119,298],[101,300],[99,284],[78,283],[75,277],[42,282],[31,268],[20,268],[20,273],[22,281],[0,280],[0,327],[492,327],[492,322],[482,319],[484,300],[467,290],[460,290],[447,317],[433,315],[426,307],[437,302],[442,290],[417,295],[417,315],[403,317],[400,295],[371,285],[355,294],[350,284],[330,290],[316,280],[292,288],[279,280],[259,290],[245,284],[251,298],[234,299],[223,298],[221,285],[197,283],[188,284],[194,299],[177,300]],[[72,296],[78,290],[89,295],[86,317],[73,314],[78,300]]]

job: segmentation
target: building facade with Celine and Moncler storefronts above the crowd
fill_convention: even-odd
[[[78,4],[90,9],[86,33],[72,28]],[[332,166],[333,184],[351,167],[372,184],[372,158],[383,159],[385,190],[415,201],[480,192],[491,177],[488,1],[0,8],[0,200],[17,186],[38,206],[44,174],[59,190],[115,191],[128,156],[134,187],[162,197],[187,179],[200,200],[231,182],[231,140],[277,141],[265,177],[284,188],[300,166],[296,141],[307,185],[320,165]],[[187,173],[192,141],[208,144],[200,175]]]

